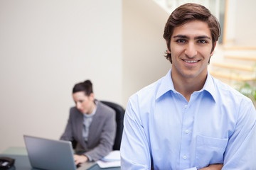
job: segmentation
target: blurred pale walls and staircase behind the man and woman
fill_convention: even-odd
[[[85,79],[98,100],[125,108],[129,96],[171,68],[164,26],[186,2],[220,21],[210,73],[253,96],[256,1],[1,0],[0,153],[24,147],[23,135],[58,140],[74,106],[73,86]]]

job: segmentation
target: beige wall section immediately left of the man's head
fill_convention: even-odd
[[[123,0],[123,103],[171,68],[164,57],[169,14],[152,0]]]

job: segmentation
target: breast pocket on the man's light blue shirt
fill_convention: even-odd
[[[201,169],[209,164],[223,164],[223,155],[228,139],[196,137],[196,167]]]

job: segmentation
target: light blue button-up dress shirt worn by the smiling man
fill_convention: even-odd
[[[256,111],[249,98],[208,74],[186,101],[165,77],[129,98],[121,168],[256,169]]]

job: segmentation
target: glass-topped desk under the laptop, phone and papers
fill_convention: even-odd
[[[37,170],[31,167],[26,148],[11,147],[0,154],[0,157],[11,157],[15,159],[16,170]],[[105,170],[120,170],[120,167],[108,168]],[[82,164],[78,170],[102,170],[94,162]]]

